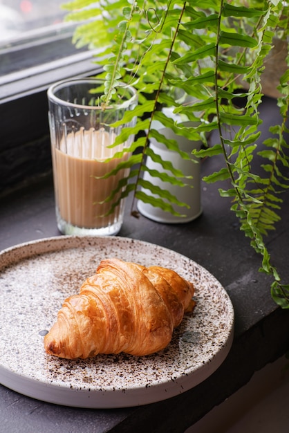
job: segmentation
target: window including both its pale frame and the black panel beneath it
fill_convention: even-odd
[[[48,86],[99,71],[93,53],[71,43],[65,2],[0,0],[0,195],[50,169]]]

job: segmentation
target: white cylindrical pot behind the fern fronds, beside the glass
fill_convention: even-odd
[[[165,145],[157,142],[154,139],[151,139],[151,149],[153,149],[156,154],[160,155],[162,160],[171,161],[174,167],[180,169],[185,176],[192,176],[192,179],[182,179],[188,184],[188,186],[185,187],[179,187],[176,185],[171,185],[167,182],[163,182],[159,178],[152,177],[148,172],[145,172],[144,179],[146,181],[150,181],[153,183],[153,185],[157,185],[163,190],[168,190],[171,192],[171,194],[174,194],[179,201],[187,203],[187,205],[189,205],[189,209],[183,206],[173,205],[173,208],[176,212],[185,214],[185,216],[175,216],[170,212],[165,212],[160,208],[150,205],[149,203],[138,201],[138,210],[142,215],[159,223],[187,223],[188,221],[193,221],[202,213],[200,163],[192,155],[192,150],[195,148],[199,149],[201,147],[201,142],[191,141],[187,138],[177,136],[174,131],[169,128],[164,128],[160,123],[158,126],[160,127],[160,129],[158,129],[159,132],[162,133],[166,138],[177,140],[180,149],[187,152],[191,159],[185,160],[181,158],[176,151],[167,149]],[[154,124],[153,127],[157,129],[156,124]],[[193,159],[197,162],[193,162]],[[147,167],[150,169],[156,169],[158,171],[162,170],[162,172],[164,171],[160,164],[154,163],[149,157],[147,159]],[[151,194],[151,192],[147,189],[142,189],[142,191],[146,194]]]

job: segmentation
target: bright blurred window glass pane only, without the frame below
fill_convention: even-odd
[[[67,0],[0,0],[0,78],[86,51],[71,42]],[[0,91],[1,93],[1,91]]]

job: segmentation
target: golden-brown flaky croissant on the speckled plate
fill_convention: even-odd
[[[149,355],[169,344],[184,312],[194,308],[193,295],[193,284],[173,270],[102,260],[80,293],[64,301],[44,348],[68,359]]]

